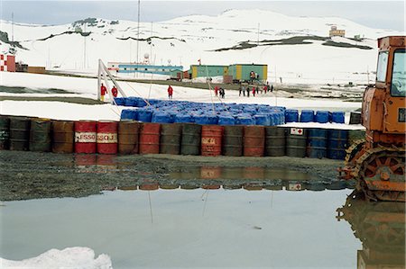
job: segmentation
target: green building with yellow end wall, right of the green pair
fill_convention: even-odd
[[[249,81],[252,72],[256,74],[256,80],[268,79],[268,65],[235,64],[228,67],[228,75],[233,76],[233,81]]]

